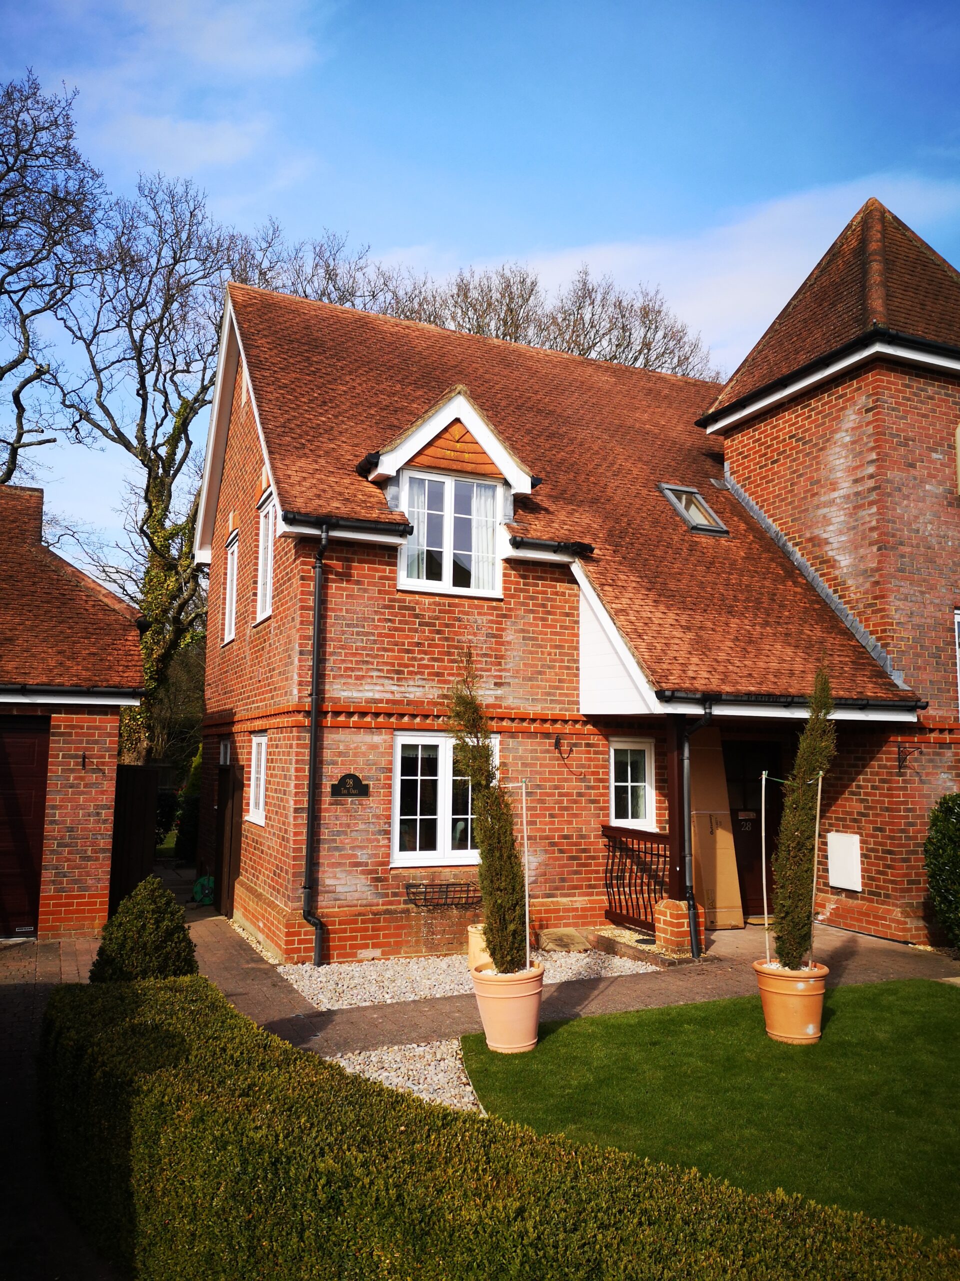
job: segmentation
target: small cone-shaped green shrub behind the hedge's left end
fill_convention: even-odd
[[[104,926],[91,983],[178,979],[198,974],[183,908],[159,876],[147,876]]]

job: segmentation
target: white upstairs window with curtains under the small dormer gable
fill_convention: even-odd
[[[407,471],[401,505],[413,533],[401,547],[399,585],[426,592],[497,596],[497,525],[503,491],[486,480]]]

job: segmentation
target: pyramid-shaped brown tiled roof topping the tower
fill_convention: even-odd
[[[709,412],[878,328],[960,347],[960,273],[906,223],[870,199],[767,329]]]

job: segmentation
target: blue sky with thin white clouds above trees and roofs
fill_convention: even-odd
[[[960,9],[923,3],[0,0],[115,190],[443,273],[660,284],[732,371],[869,195],[960,263]],[[47,457],[104,525],[119,460]]]

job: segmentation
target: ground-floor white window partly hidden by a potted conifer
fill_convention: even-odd
[[[458,769],[453,739],[449,734],[396,734],[390,865],[463,867],[477,862],[470,779]]]

